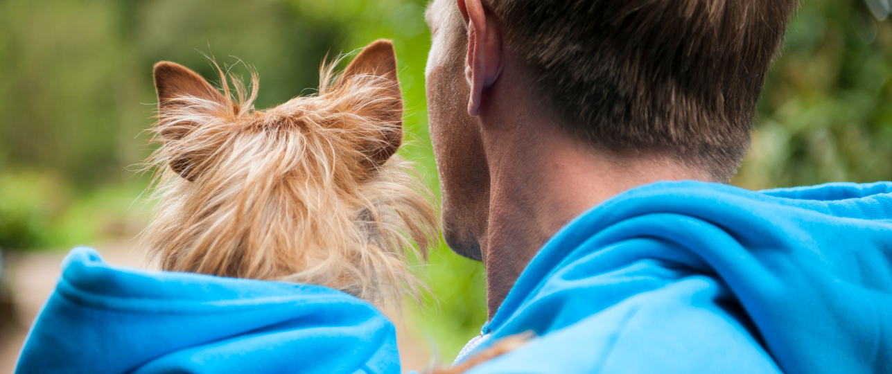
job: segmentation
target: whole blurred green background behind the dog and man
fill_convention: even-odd
[[[130,251],[148,215],[138,172],[151,152],[152,65],[214,77],[207,56],[260,73],[258,108],[310,94],[327,56],[391,38],[409,145],[438,190],[425,112],[425,0],[0,1],[0,370],[52,289],[62,256]],[[758,107],[735,185],[747,189],[892,179],[888,0],[804,0]],[[451,362],[485,321],[483,266],[438,248],[424,303],[401,324],[407,369]],[[414,360],[414,361],[413,361]],[[0,371],[3,372],[3,371]]]

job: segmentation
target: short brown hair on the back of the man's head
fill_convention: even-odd
[[[731,179],[797,0],[483,0],[567,130]]]

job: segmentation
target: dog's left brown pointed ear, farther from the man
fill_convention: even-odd
[[[166,121],[178,108],[190,105],[187,98],[198,98],[209,102],[216,102],[225,108],[226,98],[219,93],[207,80],[194,71],[187,69],[178,63],[161,61],[155,64],[153,70],[155,92],[158,93],[158,117],[159,134],[161,142],[169,145],[176,142],[191,131],[194,126],[199,126],[189,121]],[[170,168],[189,181],[194,181],[197,173],[194,171],[196,160],[188,153],[172,155],[169,160]]]

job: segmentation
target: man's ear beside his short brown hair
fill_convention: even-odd
[[[467,23],[467,64],[465,77],[471,86],[467,112],[480,114],[483,90],[499,78],[504,67],[501,53],[501,36],[494,22],[487,19],[487,11],[481,0],[457,0],[458,11]]]

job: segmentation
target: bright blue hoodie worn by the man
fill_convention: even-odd
[[[892,373],[890,191],[627,191],[549,240],[483,328],[540,337],[470,373]]]

